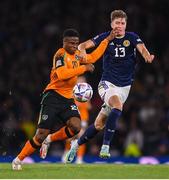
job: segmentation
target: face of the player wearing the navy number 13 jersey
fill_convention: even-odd
[[[111,22],[111,27],[117,30],[117,36],[123,36],[125,34],[126,24],[125,18],[116,18]]]

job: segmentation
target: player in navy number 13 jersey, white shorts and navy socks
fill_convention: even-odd
[[[121,116],[131,84],[134,80],[136,65],[136,49],[142,55],[146,63],[152,63],[154,55],[151,55],[143,41],[134,32],[126,31],[127,15],[122,10],[114,10],[111,13],[111,28],[116,32],[115,37],[103,55],[103,73],[98,86],[101,99],[104,101],[94,124],[89,126],[80,139],[72,142],[66,161],[72,162],[78,147],[93,138],[104,127],[103,145],[100,157],[109,158],[109,147],[114,135],[116,122]],[[95,36],[79,45],[79,50],[85,57],[86,49],[97,46],[110,31]]]

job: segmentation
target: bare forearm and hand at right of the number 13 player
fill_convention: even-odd
[[[145,47],[144,44],[138,44],[137,50],[140,52],[140,54],[143,56],[145,62],[147,63],[152,63],[154,60],[154,55],[150,54],[147,48]]]

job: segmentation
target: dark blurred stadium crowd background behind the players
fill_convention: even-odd
[[[137,58],[136,81],[118,123],[111,154],[169,155],[168,0],[1,0],[0,161],[16,155],[35,132],[40,95],[49,82],[52,56],[62,46],[63,30],[77,29],[81,42],[92,38],[110,29],[114,9],[127,13],[127,30],[137,32],[156,59],[149,65]],[[99,61],[95,72],[86,74],[94,89],[90,123],[102,104],[97,93],[101,71]],[[88,156],[98,156],[102,135],[87,144]],[[63,142],[53,143],[49,156],[55,160],[61,157],[63,147]]]

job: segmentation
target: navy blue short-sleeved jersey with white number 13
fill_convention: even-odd
[[[92,41],[97,46],[109,32],[97,35]],[[131,85],[134,80],[136,65],[136,45],[143,43],[133,32],[126,32],[122,38],[114,38],[103,55],[103,74],[101,80],[106,80],[116,86]]]

